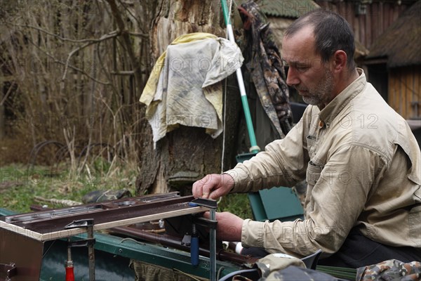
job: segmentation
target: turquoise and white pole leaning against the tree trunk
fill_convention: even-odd
[[[221,0],[222,5],[222,13],[224,14],[225,24],[227,25],[227,32],[228,32],[228,39],[235,43],[234,40],[234,32],[232,32],[232,25],[229,20],[229,13],[227,8],[227,1]],[[253,122],[251,121],[250,109],[248,108],[248,100],[246,96],[246,88],[244,87],[244,79],[243,74],[241,73],[241,67],[236,70],[236,77],[239,83],[239,89],[241,94],[241,103],[243,104],[243,111],[246,117],[246,125],[248,131],[248,138],[250,138],[250,152],[258,153],[260,148],[258,147],[258,143],[256,142],[256,137],[253,128]]]

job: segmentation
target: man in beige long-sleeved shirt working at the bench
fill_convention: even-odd
[[[217,235],[320,263],[357,268],[421,256],[421,152],[399,116],[356,68],[354,34],[340,15],[316,10],[286,31],[286,83],[309,104],[302,119],[264,152],[193,185],[217,199],[307,181],[305,219],[243,220],[218,213]]]

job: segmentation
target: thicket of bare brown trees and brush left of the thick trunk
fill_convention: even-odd
[[[89,147],[106,140],[125,157],[137,155],[123,150],[132,148],[126,146],[128,136],[146,137],[139,133],[147,120],[137,97],[149,74],[149,68],[143,69],[149,60],[143,59],[160,1],[168,0],[37,0],[5,6],[0,65],[7,76],[0,105],[25,121],[13,132],[33,145],[52,138],[72,143],[73,127],[77,152],[76,143]],[[19,100],[11,99],[18,95]],[[69,129],[66,135],[63,128]],[[89,159],[81,159],[88,164],[93,150],[86,155]],[[121,161],[120,156],[114,161]]]

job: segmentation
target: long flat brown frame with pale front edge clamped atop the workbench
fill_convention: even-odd
[[[147,195],[76,207],[36,211],[0,218],[0,228],[10,230],[34,240],[48,241],[86,232],[86,228],[65,229],[73,221],[93,219],[93,230],[128,226],[160,218],[208,211],[206,207],[190,206],[192,196],[180,197],[178,192],[165,195]]]

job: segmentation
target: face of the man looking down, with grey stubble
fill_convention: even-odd
[[[282,58],[289,65],[286,83],[297,89],[305,103],[324,107],[333,99],[333,74],[314,50],[312,27],[283,39]]]

